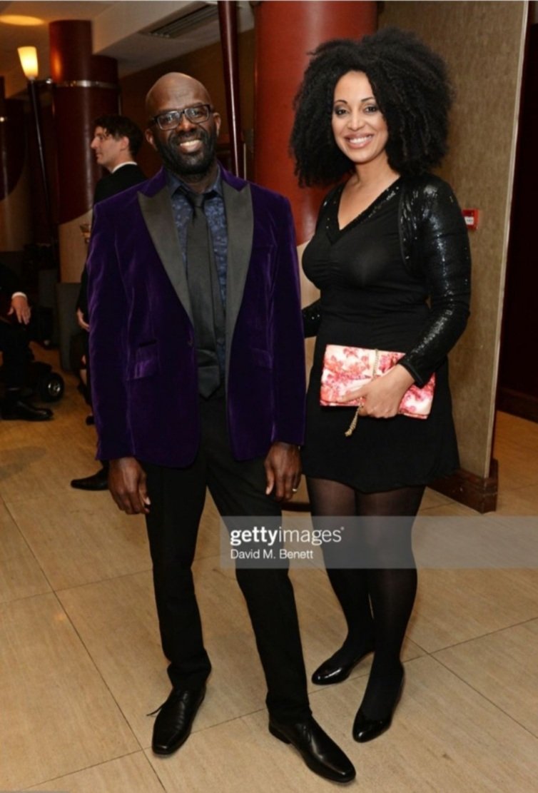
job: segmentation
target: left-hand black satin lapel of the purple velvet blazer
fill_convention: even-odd
[[[181,254],[181,246],[177,239],[177,229],[174,224],[172,202],[168,187],[165,186],[155,196],[138,194],[140,211],[150,232],[151,240],[155,245],[162,266],[179,297],[183,308],[193,321],[190,306],[189,285],[185,273],[185,262]]]

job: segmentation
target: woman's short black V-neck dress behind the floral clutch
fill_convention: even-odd
[[[428,419],[364,416],[346,437],[356,408],[319,404],[327,344],[405,353],[420,340],[430,312],[426,279],[409,272],[400,247],[403,179],[342,229],[341,189],[330,198],[303,253],[304,272],[321,291],[322,315],[307,394],[303,472],[361,492],[425,485],[459,465],[446,358],[437,368]]]

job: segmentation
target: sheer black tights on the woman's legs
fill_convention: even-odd
[[[368,718],[387,718],[403,680],[400,650],[417,591],[411,529],[418,512],[424,486],[398,488],[386,492],[361,493],[348,485],[326,479],[309,478],[308,494],[313,518],[323,517],[404,517],[397,522],[398,566],[395,558],[395,523],[364,521],[361,543],[368,554],[368,567],[341,569],[330,566],[327,574],[341,604],[348,635],[338,653],[338,660],[349,663],[375,649],[368,686],[361,705]],[[349,550],[345,550],[345,542]],[[357,554],[356,537],[344,532],[338,554],[352,558]]]

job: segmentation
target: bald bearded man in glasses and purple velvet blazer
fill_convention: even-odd
[[[163,168],[95,209],[90,356],[111,494],[147,522],[173,686],[152,748],[167,755],[189,737],[211,671],[191,573],[206,487],[221,515],[277,518],[300,480],[305,389],[288,201],[219,166],[220,117],[197,80],[165,75],[147,112]],[[236,574],[270,732],[348,782],[353,765],[311,715],[288,570]]]

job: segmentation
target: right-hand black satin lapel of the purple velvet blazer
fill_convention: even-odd
[[[235,190],[223,180],[223,197],[228,230],[226,275],[226,369],[228,370],[231,339],[234,336],[235,322],[241,307],[252,252],[254,213],[249,184],[246,184],[242,190]]]

